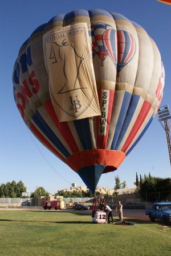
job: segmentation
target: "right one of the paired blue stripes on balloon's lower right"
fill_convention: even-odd
[[[127,111],[127,115],[125,117],[122,129],[121,129],[121,133],[119,134],[119,138],[118,138],[116,146],[115,146],[116,150],[119,149],[120,143],[122,142],[122,140],[125,136],[125,133],[127,132],[129,123],[131,123],[131,121],[132,121],[132,118],[133,118],[133,115],[135,113],[137,104],[139,103],[139,99],[140,99],[139,95],[136,95],[136,94],[132,95],[131,101],[129,103],[129,108],[128,108],[128,111]]]

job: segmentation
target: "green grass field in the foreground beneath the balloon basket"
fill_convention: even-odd
[[[92,223],[91,212],[2,210],[0,255],[171,255],[171,229],[133,221],[134,226],[100,225]]]

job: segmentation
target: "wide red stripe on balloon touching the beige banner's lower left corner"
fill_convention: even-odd
[[[55,123],[55,126],[60,131],[60,134],[66,141],[68,147],[70,147],[72,153],[79,151],[78,146],[76,145],[75,139],[71,133],[70,127],[68,126],[67,122],[59,122],[58,117],[56,116],[54,107],[52,106],[51,101],[46,101],[44,103],[44,108],[46,109],[47,113],[50,115],[52,121]]]

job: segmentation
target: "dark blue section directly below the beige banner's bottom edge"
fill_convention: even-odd
[[[76,131],[78,133],[83,149],[92,149],[91,133],[89,130],[89,119],[84,118],[74,121]]]

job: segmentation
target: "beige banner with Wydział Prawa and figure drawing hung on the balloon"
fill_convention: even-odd
[[[44,34],[43,42],[52,105],[59,121],[100,115],[87,23],[54,27]]]

